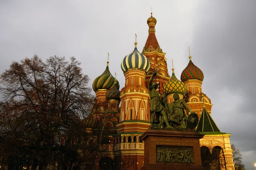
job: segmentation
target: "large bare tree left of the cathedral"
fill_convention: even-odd
[[[39,169],[48,169],[62,137],[73,139],[90,113],[88,82],[75,57],[66,61],[54,56],[43,62],[35,55],[12,62],[0,75],[0,153],[5,154],[0,161],[16,167],[32,164],[32,169],[39,162]]]

